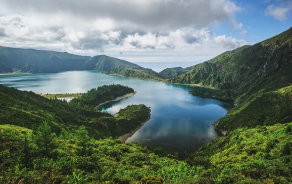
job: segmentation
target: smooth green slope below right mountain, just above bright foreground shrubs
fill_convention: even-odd
[[[292,85],[250,98],[246,103],[231,109],[227,116],[216,123],[216,127],[234,129],[291,121]]]

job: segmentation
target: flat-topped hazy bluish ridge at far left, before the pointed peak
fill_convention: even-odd
[[[0,47],[0,71],[50,73],[82,69],[90,57],[69,53]]]

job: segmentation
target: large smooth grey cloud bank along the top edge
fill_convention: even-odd
[[[200,28],[220,23],[241,10],[229,0],[2,0],[0,7],[2,12],[9,14],[48,17],[52,12],[66,13],[86,22],[93,21],[102,31],[128,29],[129,26],[147,31],[190,25]]]

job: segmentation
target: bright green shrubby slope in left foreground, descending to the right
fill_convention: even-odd
[[[200,174],[196,167],[183,161],[159,157],[142,145],[122,144],[111,138],[91,140],[91,150],[80,155],[74,135],[69,140],[56,137],[52,150],[55,157],[45,159],[37,150],[30,129],[0,125],[0,132],[0,166],[9,164],[10,168],[3,172],[0,167],[0,182],[16,177],[17,181],[24,179],[23,183],[67,183],[66,176],[78,170],[85,171],[82,176],[88,178],[86,183],[194,183]],[[21,165],[24,161],[19,154],[25,133],[30,147],[29,155],[23,159],[28,160],[26,167]]]

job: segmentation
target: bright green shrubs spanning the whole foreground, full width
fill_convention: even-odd
[[[203,146],[186,161],[110,138],[85,126],[56,135],[0,125],[0,182],[19,183],[289,183],[292,123],[241,128]]]

